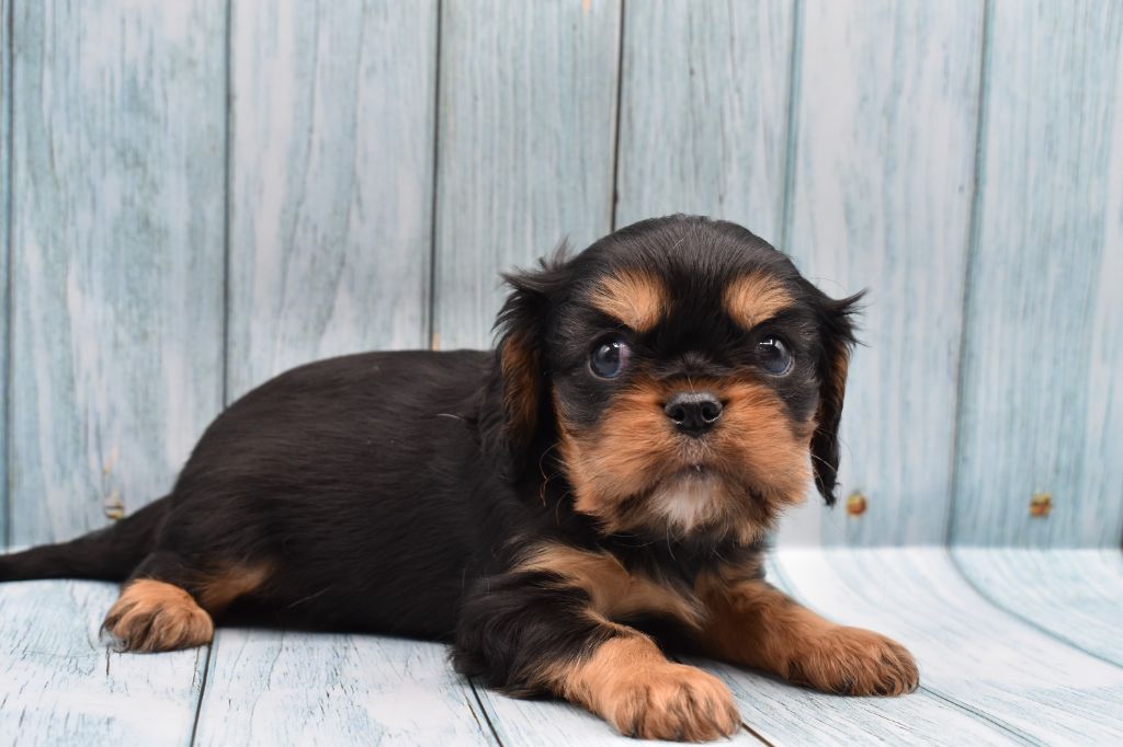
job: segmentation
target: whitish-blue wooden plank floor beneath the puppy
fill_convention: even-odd
[[[821,695],[720,664],[738,744],[1123,745],[1117,551],[782,550],[775,583],[905,643],[921,689]],[[564,703],[455,675],[436,644],[220,630],[210,648],[112,653],[112,584],[0,585],[0,745],[636,744]]]

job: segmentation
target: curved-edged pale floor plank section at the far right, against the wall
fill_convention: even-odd
[[[1026,624],[1123,666],[1123,556],[1119,548],[959,547],[975,589]]]

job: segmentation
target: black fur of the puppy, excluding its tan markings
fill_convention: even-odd
[[[760,335],[789,341],[796,369],[769,386],[793,421],[821,413],[812,444],[830,500],[841,397],[824,379],[852,344],[855,299],[831,301],[740,227],[672,216],[508,276],[496,352],[364,353],[276,377],[213,422],[166,498],[108,529],[2,557],[0,580],[155,578],[194,593],[212,569],[261,562],[268,580],[243,605],[277,624],[454,640],[462,672],[535,691],[537,667],[611,634],[579,614],[582,591],[514,570],[529,545],[604,550],[687,591],[705,569],[760,552],[705,533],[668,538],[660,526],[605,533],[573,510],[554,398],[592,425],[620,386],[588,372],[591,345],[621,330],[582,293],[621,268],[651,269],[675,292],[665,322],[632,339],[663,379],[757,376]],[[714,299],[754,269],[798,303],[747,332]],[[506,341],[524,345],[533,391],[504,376]],[[505,395],[532,398],[533,416],[512,413]]]

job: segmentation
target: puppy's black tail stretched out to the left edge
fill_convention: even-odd
[[[167,513],[166,497],[103,529],[56,545],[0,555],[0,581],[102,579],[124,581],[152,552]]]

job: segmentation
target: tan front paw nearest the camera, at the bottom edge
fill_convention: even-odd
[[[683,664],[624,674],[600,704],[620,734],[642,739],[709,741],[728,737],[741,723],[729,688]]]

